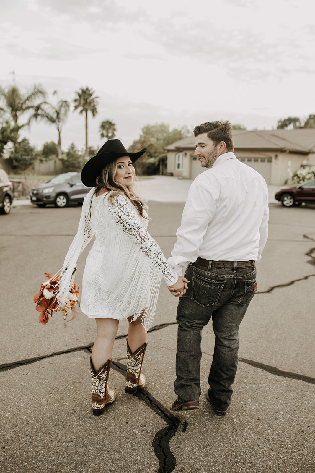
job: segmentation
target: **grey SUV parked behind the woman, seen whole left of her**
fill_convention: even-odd
[[[32,187],[30,197],[32,204],[38,207],[45,207],[47,204],[66,207],[70,202],[82,204],[90,189],[91,187],[82,183],[81,173],[64,173]]]

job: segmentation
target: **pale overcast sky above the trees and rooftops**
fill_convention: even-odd
[[[1,1],[0,84],[41,83],[72,101],[92,87],[102,120],[128,146],[147,123],[230,119],[271,129],[315,113],[314,0]],[[32,144],[57,140],[34,124]],[[84,118],[71,111],[62,147],[84,146]]]

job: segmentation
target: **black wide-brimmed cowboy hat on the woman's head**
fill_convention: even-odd
[[[122,156],[129,156],[134,163],[145,151],[146,148],[141,149],[137,153],[128,153],[120,140],[108,140],[97,151],[96,155],[85,163],[81,172],[81,180],[87,187],[94,187],[96,185],[96,177],[101,174],[102,168],[108,163]]]

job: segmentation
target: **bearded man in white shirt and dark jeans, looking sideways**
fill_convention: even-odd
[[[206,397],[224,415],[238,366],[238,327],[257,289],[255,263],[268,235],[268,188],[234,155],[230,122],[203,123],[194,135],[195,155],[207,170],[190,186],[168,260],[179,275],[187,268],[190,281],[177,309],[177,399],[170,409],[199,407],[201,330],[212,318],[215,345]]]

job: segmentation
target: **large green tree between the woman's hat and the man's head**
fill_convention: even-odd
[[[160,167],[160,174],[166,163],[165,146],[179,141],[190,135],[187,126],[170,130],[170,125],[166,123],[155,123],[145,125],[139,138],[128,148],[129,152],[137,152],[147,148],[146,153],[135,163],[138,174],[156,174]]]

